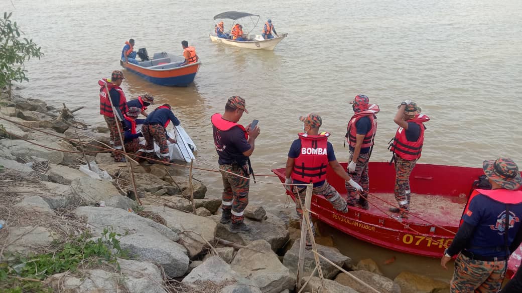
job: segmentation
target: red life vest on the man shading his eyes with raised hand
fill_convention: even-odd
[[[417,141],[409,141],[406,139],[406,131],[399,127],[395,133],[392,145],[390,145],[390,152],[397,154],[404,160],[412,161],[421,157],[422,144],[424,142],[424,125],[423,123],[430,121],[430,117],[424,114],[417,114],[413,119],[407,122],[413,122],[420,127],[420,135]]]

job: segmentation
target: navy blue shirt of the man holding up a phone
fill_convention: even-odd
[[[243,166],[247,163],[248,157],[243,153],[250,150],[251,145],[246,140],[245,132],[241,128],[234,126],[229,130],[222,131],[212,125],[212,133],[220,165],[238,163]]]

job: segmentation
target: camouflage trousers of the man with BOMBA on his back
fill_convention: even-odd
[[[299,215],[300,221],[303,221],[303,205],[304,205],[304,200],[306,198],[306,187],[299,186],[299,187],[295,187],[294,190],[297,191],[297,195],[298,195],[295,198],[295,211]],[[337,192],[337,190],[335,190],[335,188],[333,186],[328,184],[328,181],[325,181],[322,186],[314,187],[314,189],[312,190],[312,196],[314,194],[324,196],[331,203],[331,205],[334,207],[334,209],[336,209],[337,211],[340,211],[342,213],[348,212],[348,204],[346,203],[346,200],[341,197],[339,192]],[[310,224],[312,224],[312,214],[309,213],[308,217],[310,219]],[[312,231],[314,232],[314,235],[315,235],[315,230],[314,230],[313,224],[312,224]],[[310,236],[308,234],[306,234],[306,245],[307,246],[311,245]]]

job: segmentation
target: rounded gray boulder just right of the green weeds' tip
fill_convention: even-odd
[[[180,244],[157,233],[136,233],[120,239],[122,249],[141,260],[157,263],[171,278],[181,277],[188,270],[190,260]]]

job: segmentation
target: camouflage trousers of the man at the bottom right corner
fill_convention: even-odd
[[[493,293],[502,285],[507,261],[472,260],[460,253],[449,288],[451,293]]]

